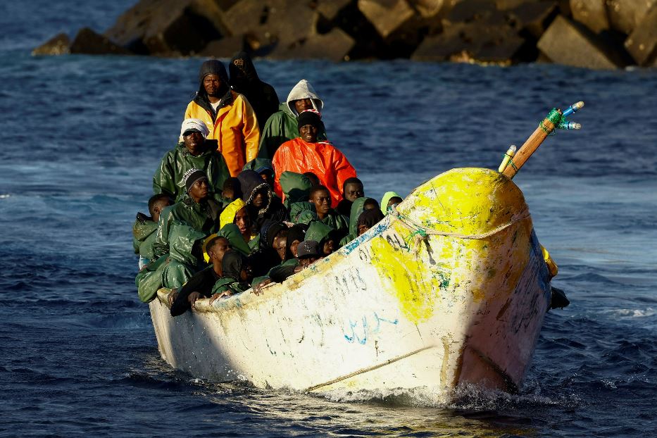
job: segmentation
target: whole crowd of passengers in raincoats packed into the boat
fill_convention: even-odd
[[[323,101],[301,80],[279,104],[245,53],[206,61],[180,142],[153,177],[149,215],[137,213],[139,297],[171,289],[171,314],[283,282],[378,223],[381,203],[327,140]]]

